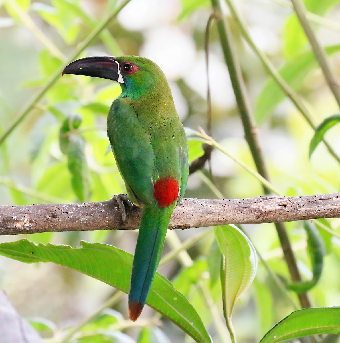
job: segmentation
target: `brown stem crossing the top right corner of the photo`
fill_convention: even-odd
[[[318,61],[320,68],[325,76],[326,82],[333,93],[339,107],[340,107],[340,86],[338,81],[333,77],[330,65],[327,60],[326,52],[323,46],[318,42],[314,30],[306,17],[306,8],[301,0],[291,0],[294,11],[298,16],[300,24],[305,32],[312,50],[314,52],[315,58]]]

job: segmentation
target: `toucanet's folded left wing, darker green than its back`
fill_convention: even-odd
[[[151,203],[155,156],[149,135],[141,128],[136,112],[124,99],[116,99],[110,108],[107,126],[111,148],[131,200]]]

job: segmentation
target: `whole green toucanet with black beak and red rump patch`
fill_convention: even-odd
[[[143,207],[129,294],[129,315],[135,321],[158,267],[172,211],[186,189],[186,134],[164,73],[147,58],[87,57],[69,64],[63,74],[118,81],[122,88],[107,129],[129,199]]]

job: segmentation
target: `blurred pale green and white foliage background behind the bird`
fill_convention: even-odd
[[[338,113],[339,107],[325,83],[297,17],[292,13],[290,2],[235,2],[244,16],[251,39],[302,97],[315,125]],[[25,104],[29,104],[30,99],[46,87],[56,71],[65,66],[68,58],[81,47],[103,18],[114,11],[116,5],[115,0],[0,0],[0,135],[18,114],[23,113]],[[305,0],[305,5],[317,36],[326,47],[333,72],[340,75],[340,1]],[[314,130],[269,78],[260,60],[241,38],[239,28],[223,1],[222,9],[237,45],[272,184],[287,196],[339,191],[339,164],[324,144],[319,144],[309,159]],[[167,76],[184,126],[194,130],[200,126],[206,130],[204,33],[211,11],[207,0],[132,0],[79,57],[123,54],[152,59]],[[215,23],[210,32],[209,82],[212,137],[254,168]],[[33,104],[29,114],[0,146],[0,203],[102,201],[124,192],[124,183],[114,158],[111,152],[107,153],[109,143],[105,129],[109,107],[119,94],[119,85],[108,80],[58,76],[46,95]],[[339,133],[338,125],[325,136],[338,155]],[[190,159],[201,153],[201,144],[191,142]],[[212,153],[211,170],[214,183],[225,198],[250,198],[262,194],[259,181],[220,151]],[[185,196],[216,198],[206,176],[209,176],[209,168],[203,170],[203,175],[200,172],[191,175]],[[325,225],[339,233],[339,219],[325,221]],[[292,222],[287,223],[287,228],[300,271],[305,279],[311,279],[312,266],[306,253],[303,226]],[[245,225],[244,229],[270,269],[289,279],[274,225]],[[184,241],[199,230],[183,230],[178,235]],[[340,268],[340,240],[324,230],[321,234],[327,253],[322,276],[311,290],[310,297],[313,306],[335,306],[340,303],[340,274],[336,272]],[[221,289],[214,287],[218,275],[216,265],[214,269],[214,252],[216,256],[218,248],[212,235],[206,237],[209,239],[200,240],[188,249],[194,261],[191,266],[182,268],[175,259],[159,271],[175,280],[178,289],[183,288],[180,291],[198,310],[214,341],[219,342],[216,328],[211,324],[213,319],[205,311],[197,287],[198,280],[211,283],[212,299],[222,313]],[[73,246],[85,239],[112,244],[133,253],[137,233],[46,233],[27,235],[27,238],[37,243]],[[1,242],[15,239],[1,237]],[[171,244],[165,248],[166,252],[170,250]],[[113,292],[112,287],[104,283],[54,264],[26,265],[1,257],[0,270],[1,288],[7,292],[14,307],[24,317],[44,318],[39,319],[45,323],[40,327],[39,320],[34,322],[35,328],[42,332],[43,325],[46,325],[46,332],[42,334],[47,338],[53,334],[56,334],[54,338],[58,337],[64,328],[79,325]],[[296,295],[289,292],[289,296],[299,307]],[[260,262],[254,283],[234,311],[233,321],[239,341],[259,340],[293,310],[292,304],[278,291]],[[98,322],[102,320],[100,325],[104,328],[126,318],[126,298],[117,302],[114,310],[110,311],[97,319]],[[152,311],[145,309],[142,318],[152,318]],[[161,330],[170,341],[190,341],[174,324],[168,320],[162,322]],[[144,329],[139,342],[166,342],[167,338],[155,327],[154,321],[140,325],[154,329]],[[131,327],[122,328],[137,339],[140,332],[137,326],[131,324]],[[119,333],[113,336],[112,342],[130,342],[127,336],[117,338]],[[92,341],[97,342],[94,338]],[[55,342],[61,340],[55,339]]]

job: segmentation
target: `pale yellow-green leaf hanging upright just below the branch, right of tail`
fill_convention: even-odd
[[[221,282],[225,316],[231,318],[237,299],[253,281],[257,268],[255,248],[249,238],[234,225],[215,226],[219,249],[225,256]]]

